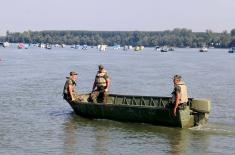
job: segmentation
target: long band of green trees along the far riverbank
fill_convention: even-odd
[[[173,46],[173,47],[215,47],[228,48],[235,46],[235,29],[231,32],[221,33],[206,30],[205,32],[192,32],[190,29],[173,29],[166,31],[7,31],[5,36],[0,37],[0,42],[10,43],[49,43],[68,45],[88,45],[98,44],[114,45],[143,45],[153,46]]]

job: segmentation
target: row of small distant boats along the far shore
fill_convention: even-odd
[[[88,48],[96,48],[98,51],[107,51],[107,49],[111,48],[113,50],[120,50],[122,49],[123,51],[128,51],[128,50],[133,50],[133,51],[142,51],[145,47],[144,46],[132,46],[132,45],[125,45],[125,46],[121,46],[121,45],[114,45],[109,47],[108,45],[105,44],[100,44],[97,46],[88,46],[86,44],[84,45],[65,45],[65,44],[44,44],[44,43],[38,43],[38,44],[25,44],[25,43],[18,43],[15,44],[16,47],[18,49],[28,49],[30,47],[38,47],[38,48],[42,48],[42,49],[52,49],[52,48],[64,48],[66,46],[70,46],[70,48],[72,49],[79,49],[79,50],[87,50]],[[10,47],[11,44],[9,42],[0,42],[0,46],[7,48]],[[154,49],[156,51],[160,51],[160,52],[168,52],[168,51],[174,51],[175,48],[174,47],[169,47],[169,46],[155,46]],[[203,46],[199,49],[199,52],[208,52],[208,48],[206,46]],[[229,49],[228,51],[229,53],[235,53],[235,47],[232,47],[231,49]]]

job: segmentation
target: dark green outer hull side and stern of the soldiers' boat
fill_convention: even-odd
[[[149,123],[154,125],[189,128],[195,126],[195,116],[191,114],[190,106],[178,109],[173,116],[173,109],[143,105],[104,104],[89,102],[69,102],[77,115],[110,119],[121,122]]]

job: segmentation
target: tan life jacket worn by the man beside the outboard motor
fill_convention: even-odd
[[[187,86],[183,83],[180,82],[179,84],[177,84],[177,86],[180,87],[180,103],[187,103],[188,102],[188,91],[187,91]],[[172,100],[173,102],[175,102],[176,99],[176,92],[172,93]]]

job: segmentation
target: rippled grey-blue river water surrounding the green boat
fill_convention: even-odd
[[[92,89],[97,65],[111,77],[110,93],[170,96],[183,76],[190,97],[212,101],[208,125],[191,129],[90,120],[62,99],[65,77]],[[234,154],[235,55],[227,49],[161,53],[0,48],[0,154]]]

